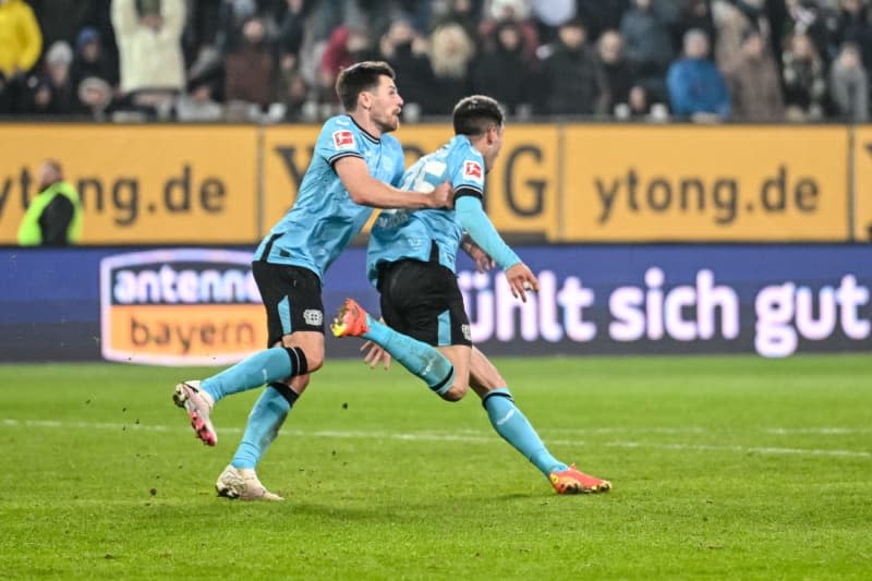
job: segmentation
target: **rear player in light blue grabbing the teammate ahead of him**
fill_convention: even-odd
[[[343,70],[336,92],[346,113],[324,123],[293,207],[261,242],[252,263],[270,347],[202,382],[183,382],[173,394],[196,436],[215,446],[213,407],[227,396],[267,385],[232,461],[218,477],[221,496],[281,499],[261,484],[255,467],[308,385],[310,374],[324,362],[324,273],[373,208],[450,205],[448,183],[426,195],[395,187],[404,159],[399,142],[388,134],[400,124],[403,101],[387,63],[366,61]],[[415,352],[415,346],[409,350]],[[437,384],[449,370],[420,372],[425,382]]]

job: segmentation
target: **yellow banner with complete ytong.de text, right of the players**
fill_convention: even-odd
[[[565,131],[562,241],[848,238],[845,128]]]

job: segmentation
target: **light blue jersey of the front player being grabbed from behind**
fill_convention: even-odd
[[[484,192],[485,166],[482,154],[465,135],[456,135],[438,150],[419,159],[402,178],[400,187],[427,193],[448,181],[456,196]],[[375,286],[378,265],[403,258],[438,262],[455,271],[463,228],[455,210],[383,210],[370,234],[366,273]]]

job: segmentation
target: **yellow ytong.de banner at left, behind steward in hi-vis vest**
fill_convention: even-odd
[[[0,126],[0,244],[15,244],[40,161],[82,197],[83,244],[250,243],[257,239],[257,128]]]

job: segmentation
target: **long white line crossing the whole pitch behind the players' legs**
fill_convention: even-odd
[[[166,425],[148,424],[118,424],[100,422],[60,422],[57,420],[0,420],[0,424],[11,427],[47,427],[47,428],[82,428],[82,429],[132,429],[144,432],[187,432],[187,428],[170,427]],[[240,427],[223,427],[218,431],[220,434],[241,434]],[[344,439],[398,439],[410,441],[462,441],[465,444],[489,444],[498,441],[494,434],[479,432],[481,436],[472,435],[471,429],[465,429],[463,434],[447,434],[444,432],[416,432],[416,433],[395,433],[395,432],[367,432],[367,431],[335,431],[318,429],[306,432],[303,429],[283,429],[281,434],[296,437],[316,438],[344,438]],[[583,446],[585,441],[579,439],[555,439],[545,438],[550,445],[558,446]],[[608,441],[602,446],[610,448],[647,448],[659,450],[697,450],[697,451],[732,451],[740,453],[763,453],[763,455],[796,455],[796,456],[832,456],[841,458],[872,458],[872,452],[862,450],[832,450],[832,449],[808,449],[808,448],[778,448],[778,447],[744,447],[744,446],[714,446],[706,444],[656,444],[645,441]]]

